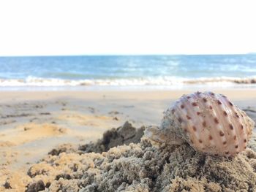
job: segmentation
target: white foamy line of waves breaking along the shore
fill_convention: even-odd
[[[108,78],[93,80],[64,80],[59,78],[26,77],[25,79],[0,79],[0,87],[62,87],[62,86],[171,86],[171,85],[238,85],[256,84],[256,77],[142,77]]]

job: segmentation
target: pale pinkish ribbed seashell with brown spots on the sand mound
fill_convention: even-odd
[[[246,149],[254,125],[226,96],[196,92],[181,96],[165,111],[161,126],[148,127],[145,135],[155,142],[187,142],[202,153],[230,156]]]

